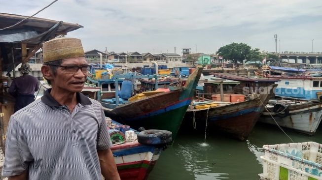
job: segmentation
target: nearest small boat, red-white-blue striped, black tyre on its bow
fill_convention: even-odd
[[[112,121],[112,124],[121,125],[115,121]],[[117,171],[121,180],[146,180],[161,152],[166,149],[166,142],[171,142],[171,132],[164,131],[168,135],[166,141],[154,141],[154,143],[146,143],[147,141],[145,141],[145,144],[142,144],[143,142],[140,138],[142,138],[141,134],[143,132],[139,133],[134,129],[131,130],[134,131],[132,142],[127,142],[123,139],[123,143],[115,143],[111,147]],[[114,133],[115,131],[111,132]],[[118,132],[122,134],[120,131]],[[111,138],[115,137],[113,135],[111,135]],[[150,140],[153,141],[153,139]]]

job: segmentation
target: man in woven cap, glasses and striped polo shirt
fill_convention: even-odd
[[[41,72],[52,88],[10,118],[2,176],[9,180],[119,180],[99,102],[83,89],[89,65],[81,41],[43,44]]]

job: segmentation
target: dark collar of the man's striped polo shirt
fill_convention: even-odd
[[[45,91],[44,95],[41,97],[41,101],[51,107],[62,106],[53,98],[53,96],[50,95],[50,91],[51,89]],[[83,106],[92,104],[92,101],[80,92],[76,92],[76,99],[77,102]]]

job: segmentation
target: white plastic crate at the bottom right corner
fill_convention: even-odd
[[[264,145],[263,180],[322,180],[322,145],[315,142]]]

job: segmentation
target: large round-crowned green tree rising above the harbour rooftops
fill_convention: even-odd
[[[250,53],[251,47],[244,43],[231,43],[218,49],[216,54],[226,60],[232,60],[235,64],[237,61],[242,62]]]

